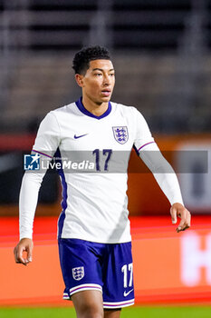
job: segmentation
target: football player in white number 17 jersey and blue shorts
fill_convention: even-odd
[[[63,298],[72,299],[79,318],[119,318],[121,308],[134,303],[127,169],[115,170],[125,160],[121,154],[129,154],[134,147],[149,166],[171,204],[172,223],[177,223],[177,216],[181,219],[177,232],[190,226],[190,214],[184,207],[177,176],[167,171],[169,165],[143,116],[134,107],[110,102],[115,73],[108,50],[85,47],[74,56],[72,67],[82,97],[45,116],[32,154],[46,161],[55,155],[60,163],[68,152],[73,152],[78,161],[86,160],[86,155],[92,158],[94,170],[88,173],[59,169]],[[44,173],[24,174],[16,263],[32,262],[34,213]]]

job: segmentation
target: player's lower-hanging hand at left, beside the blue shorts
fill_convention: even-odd
[[[25,266],[27,263],[33,261],[33,240],[29,238],[23,238],[14,247],[14,260],[15,263],[23,263]],[[26,258],[24,258],[23,253],[26,252]]]

